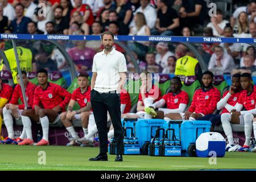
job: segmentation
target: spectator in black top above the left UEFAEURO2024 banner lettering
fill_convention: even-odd
[[[67,19],[64,19],[63,16],[63,8],[61,6],[57,6],[54,10],[54,31],[60,32],[61,34],[64,34],[64,31],[68,31],[69,28],[69,22]]]

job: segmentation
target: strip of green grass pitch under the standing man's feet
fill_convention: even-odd
[[[46,152],[46,165],[38,164],[39,151]],[[217,158],[216,165],[209,158],[155,157],[124,155],[123,162],[90,162],[98,154],[98,147],[13,146],[0,145],[0,170],[200,170],[200,169],[256,169],[256,153],[226,152]]]

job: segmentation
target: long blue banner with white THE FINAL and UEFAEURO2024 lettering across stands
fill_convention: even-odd
[[[0,34],[1,39],[23,40],[101,40],[100,35],[30,35]],[[118,41],[150,41],[150,42],[188,42],[188,43],[256,43],[256,38],[216,38],[216,37],[184,37],[184,36],[132,36],[116,35]]]

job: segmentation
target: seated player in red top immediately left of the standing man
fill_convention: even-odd
[[[90,105],[90,86],[88,85],[88,73],[79,73],[77,75],[77,84],[79,88],[73,91],[71,100],[68,104],[68,111],[63,112],[60,115],[60,119],[63,125],[66,127],[68,132],[73,138],[67,146],[73,146],[76,139],[79,139],[73,125],[72,121],[79,119],[82,123],[82,130],[84,131],[84,136],[88,134],[88,120],[91,114],[92,105]],[[75,103],[80,106],[79,110],[73,110]]]

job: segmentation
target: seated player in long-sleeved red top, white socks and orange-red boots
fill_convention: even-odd
[[[22,123],[25,127],[27,138],[19,145],[34,144],[31,131],[31,120],[41,123],[43,138],[36,144],[46,146],[49,144],[48,133],[49,124],[60,121],[60,113],[65,111],[65,106],[71,100],[71,94],[57,84],[48,82],[48,73],[45,69],[40,69],[36,73],[39,86],[35,89],[35,96],[32,109],[22,111]]]

